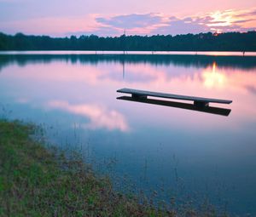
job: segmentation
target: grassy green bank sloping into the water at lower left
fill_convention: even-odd
[[[214,216],[177,215],[121,195],[79,158],[67,161],[32,140],[35,129],[0,120],[0,216]]]

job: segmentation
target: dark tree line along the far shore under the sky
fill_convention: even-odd
[[[14,36],[0,32],[0,50],[256,51],[256,31],[98,37]]]

